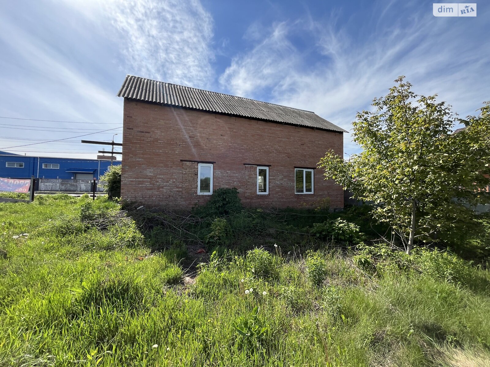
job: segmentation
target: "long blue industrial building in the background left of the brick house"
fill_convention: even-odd
[[[102,176],[110,165],[111,161],[105,160],[21,156],[0,151],[0,177],[4,178],[92,180]]]

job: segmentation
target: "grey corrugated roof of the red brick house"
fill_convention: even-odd
[[[346,132],[339,126],[334,125],[311,111],[260,102],[229,94],[183,87],[133,75],[126,75],[123,86],[119,90],[118,97],[224,115]]]

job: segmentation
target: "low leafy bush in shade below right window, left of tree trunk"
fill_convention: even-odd
[[[359,226],[340,218],[323,223],[315,223],[310,229],[310,233],[321,239],[332,239],[349,243],[360,243],[363,240],[363,234]]]

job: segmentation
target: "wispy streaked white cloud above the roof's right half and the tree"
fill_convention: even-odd
[[[220,78],[221,86],[251,98],[263,99],[269,92],[272,102],[315,111],[351,130],[356,112],[368,109],[396,77],[406,75],[414,92],[438,93],[439,100],[466,115],[488,99],[490,44],[470,37],[483,19],[459,21],[432,14],[413,14],[407,21],[393,15],[391,26],[372,29],[368,36],[358,34],[362,42],[336,26],[335,19],[273,24],[260,39],[253,32],[253,47],[233,58]],[[357,30],[355,24],[350,30],[353,26]],[[311,38],[315,50],[295,49],[291,40],[300,34]],[[350,137],[345,138],[345,151],[354,152]]]

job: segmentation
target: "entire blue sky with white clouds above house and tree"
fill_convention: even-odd
[[[71,137],[115,129],[86,138],[121,141],[126,74],[315,111],[346,130],[406,75],[473,115],[490,100],[489,5],[462,18],[434,17],[428,1],[2,1],[0,116],[76,123],[0,118],[0,150],[94,158],[101,147]]]

